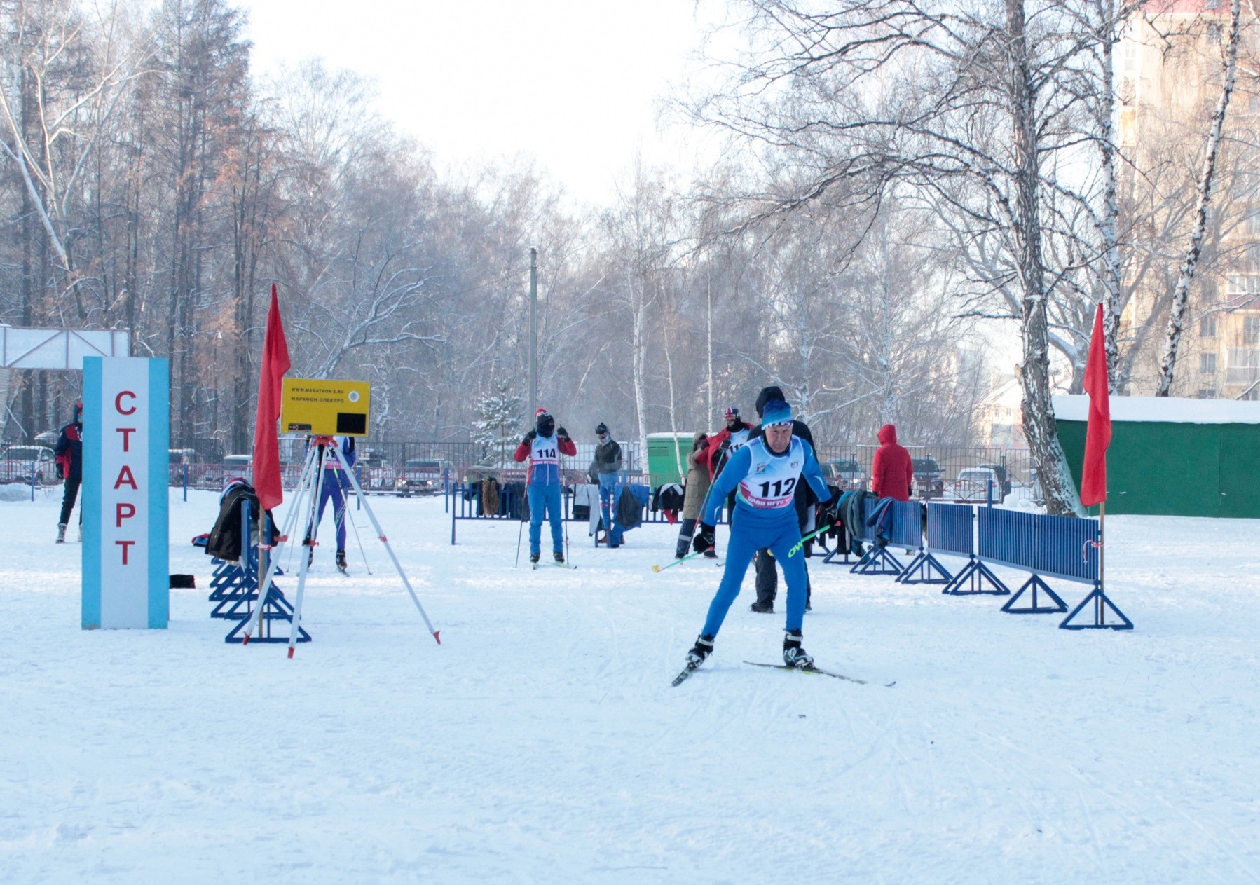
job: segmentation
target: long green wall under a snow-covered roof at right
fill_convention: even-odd
[[[1058,439],[1080,488],[1085,421],[1058,421]],[[1257,459],[1256,424],[1115,421],[1108,513],[1260,518]]]

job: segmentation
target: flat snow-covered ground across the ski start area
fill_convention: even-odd
[[[805,647],[866,686],[745,666],[782,628],[750,571],[670,688],[719,574],[651,572],[673,528],[532,572],[515,523],[451,547],[441,499],[373,503],[441,647],[353,536],[294,661],[224,644],[188,543],[214,495],[178,490],[198,589],[168,630],[83,632],[57,502],[0,502],[0,881],[1260,881],[1257,522],[1110,519],[1131,633],[815,558]]]

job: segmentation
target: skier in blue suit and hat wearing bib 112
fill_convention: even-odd
[[[814,449],[793,436],[791,407],[772,400],[761,414],[764,435],[736,451],[713,483],[708,504],[693,541],[697,551],[713,546],[717,512],[727,494],[736,492],[731,540],[726,550],[726,571],[709,605],[704,629],[696,647],[687,653],[688,667],[698,667],[713,652],[713,639],[722,628],[731,603],[752,557],[769,548],[782,566],[788,582],[788,624],[784,635],[784,662],[809,667],[814,659],[801,648],[801,622],[805,618],[805,560],[800,551],[800,522],[793,506],[796,484],[808,482],[819,500],[832,502],[832,490],[823,480]]]

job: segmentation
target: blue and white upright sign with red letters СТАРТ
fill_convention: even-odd
[[[165,359],[83,359],[83,629],[165,628],[170,613]]]

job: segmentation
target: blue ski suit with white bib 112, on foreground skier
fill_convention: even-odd
[[[731,455],[713,483],[703,522],[717,524],[717,513],[727,494],[736,492],[731,519],[731,540],[726,550],[726,570],[717,595],[709,605],[702,634],[716,637],[731,603],[740,595],[740,585],[752,557],[762,547],[782,566],[788,582],[788,629],[799,630],[805,618],[805,558],[800,548],[800,522],[793,506],[796,484],[805,480],[820,500],[832,497],[823,480],[814,449],[794,436],[788,450],[776,455],[765,439],[756,439]]]

